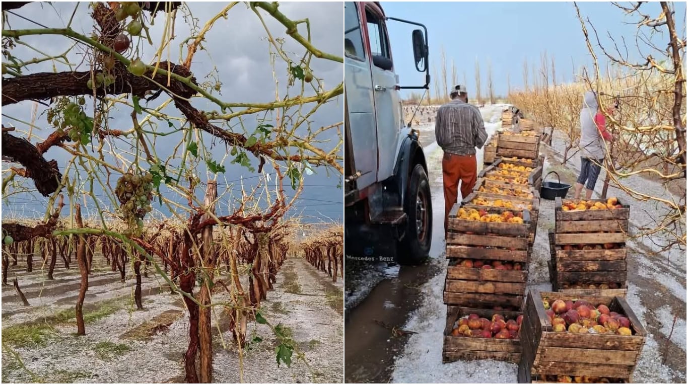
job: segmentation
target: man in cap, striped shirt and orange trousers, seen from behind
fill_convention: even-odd
[[[435,138],[444,151],[442,182],[444,184],[444,238],[447,238],[449,212],[458,199],[461,181],[462,199],[467,197],[477,177],[475,148],[482,148],[487,140],[485,124],[480,110],[468,104],[466,86],[451,89],[451,102],[437,111]]]

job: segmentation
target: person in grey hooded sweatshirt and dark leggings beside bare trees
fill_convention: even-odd
[[[612,109],[610,109],[610,112]],[[585,186],[585,199],[592,197],[597,177],[600,175],[604,163],[605,143],[614,140],[612,134],[605,129],[605,116],[597,104],[597,96],[593,91],[585,92],[583,108],[581,109],[581,174],[576,181],[574,199],[581,198]]]

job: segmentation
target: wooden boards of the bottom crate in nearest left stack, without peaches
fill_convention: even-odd
[[[495,311],[487,309],[466,309],[447,306],[447,326],[444,327],[442,362],[458,360],[499,360],[518,363],[521,360],[521,342],[517,339],[457,337],[452,336],[454,322],[458,318],[475,313],[482,318],[491,319],[493,314],[502,314],[508,319],[521,315],[519,311]]]

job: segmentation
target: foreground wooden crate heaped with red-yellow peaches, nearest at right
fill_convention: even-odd
[[[564,320],[568,311],[555,312],[550,308],[556,300],[570,301],[572,310],[568,311],[579,314],[579,320],[568,322]],[[586,314],[590,316],[581,316],[583,311],[577,310],[579,303],[587,308]],[[566,309],[569,309],[568,304]],[[601,318],[603,314],[607,316]],[[569,320],[572,318],[575,319],[575,315],[568,316]],[[614,324],[610,320],[614,320]],[[568,326],[561,330],[557,326],[561,324],[559,321],[564,321],[565,327],[572,323],[579,327]],[[603,292],[579,296],[531,290],[519,336],[522,342],[519,383],[552,382],[552,377],[563,382],[583,382],[577,380],[596,377],[594,383],[601,382],[601,378],[625,383],[630,382],[638,363],[646,331],[621,296]]]

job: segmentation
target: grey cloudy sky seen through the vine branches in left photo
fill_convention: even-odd
[[[172,41],[169,49],[169,60],[173,63],[180,63],[186,58],[186,47],[180,48],[184,40],[191,36],[193,28],[202,28],[202,26],[214,17],[227,3],[188,3],[186,10],[180,10],[175,19],[175,39]],[[74,12],[75,3],[30,3],[14,10],[17,15],[21,15],[32,21],[21,19],[17,15],[10,14],[8,17],[8,24],[4,29],[24,29],[24,28],[43,28],[36,23],[41,23],[48,28],[63,28],[67,25],[69,17]],[[343,51],[343,41],[341,39],[342,23],[343,23],[343,7],[341,3],[281,3],[279,10],[286,14],[292,20],[300,20],[308,18],[310,20],[310,32],[312,34],[312,43],[315,47],[330,54],[341,56]],[[74,21],[72,21],[72,28],[77,32],[82,32],[86,36],[92,34],[93,21],[89,17],[90,10],[88,3],[80,3],[76,9]],[[275,38],[284,39],[283,50],[294,61],[299,61],[303,56],[305,49],[299,43],[293,41],[287,34],[286,29],[272,19],[267,12],[261,12],[261,16],[268,25],[270,33]],[[147,14],[149,17],[149,14]],[[147,23],[148,24],[148,23]],[[135,39],[132,43],[133,49],[138,47],[138,56],[144,62],[151,63],[155,50],[160,45],[162,40],[162,32],[165,24],[165,15],[159,12],[155,17],[154,25],[151,26],[151,39],[155,47],[149,45],[145,40],[138,41]],[[195,25],[195,27],[193,26]],[[305,24],[299,26],[299,32],[306,36]],[[206,41],[204,42],[204,51],[199,51],[195,54],[191,70],[195,75],[198,83],[205,81],[215,82],[215,78],[219,78],[222,82],[221,91],[213,91],[213,95],[223,100],[224,102],[272,102],[275,100],[275,80],[273,78],[273,69],[270,64],[270,51],[268,41],[266,39],[266,31],[261,25],[259,17],[243,3],[232,8],[226,19],[219,19],[211,32],[206,34]],[[72,41],[63,36],[43,35],[43,36],[25,36],[21,39],[23,43],[30,45],[34,49],[50,55],[58,55],[65,52],[71,45]],[[136,46],[135,46],[136,45]],[[274,50],[273,50],[274,51]],[[41,54],[31,50],[29,47],[19,45],[12,50],[12,55],[17,56],[23,60],[41,56]],[[162,60],[168,58],[168,50],[164,51]],[[125,53],[125,56],[134,58],[137,54],[132,53],[132,50]],[[181,57],[180,57],[181,56]],[[77,70],[85,71],[88,69],[88,59],[85,60],[85,50],[83,46],[77,46],[68,54],[69,62],[76,65]],[[6,58],[3,58],[6,61]],[[316,78],[320,78],[324,89],[332,89],[342,81],[342,65],[333,61],[313,58],[310,67]],[[68,70],[66,65],[47,61],[38,65],[31,65],[28,69],[24,69],[25,74],[35,72],[53,72],[54,70],[62,72]],[[215,72],[216,70],[216,72]],[[210,77],[207,77],[210,75]],[[275,58],[275,75],[279,81],[279,98],[284,98],[286,94],[287,85],[287,65],[281,58]],[[300,85],[290,90],[289,96],[297,96],[300,92]],[[310,96],[314,91],[305,91],[304,96]],[[158,107],[166,100],[166,95],[151,101],[147,107]],[[131,102],[131,98],[129,98]],[[193,98],[192,104],[202,111],[219,111],[219,107],[204,98]],[[87,107],[92,106],[92,100],[87,98]],[[307,104],[303,108],[303,114],[312,108],[313,104]],[[28,131],[29,126],[18,122],[18,120],[30,121],[32,119],[33,102],[22,102],[20,104],[12,104],[2,109],[3,124],[12,124],[20,131]],[[41,139],[45,138],[53,129],[48,126],[45,119],[45,114],[41,115],[47,107],[39,105],[39,116],[36,118],[34,125],[34,135],[39,135]],[[111,129],[127,130],[131,128],[131,107],[119,105],[116,111],[111,111],[109,117],[109,124]],[[240,111],[241,109],[234,109]],[[321,126],[328,126],[343,120],[343,96],[339,96],[335,100],[325,104],[314,115],[310,117],[310,129],[316,131]],[[173,106],[166,107],[162,111],[168,113],[171,117],[180,117],[181,113]],[[295,111],[293,109],[292,111]],[[87,109],[87,113],[92,115],[92,111]],[[255,131],[256,126],[261,120],[267,124],[274,124],[275,112],[258,113],[255,115],[245,115],[244,118],[233,119],[230,122],[217,122],[216,124],[222,126],[224,129],[239,133],[248,133],[249,135]],[[14,118],[14,119],[13,119]],[[142,117],[140,116],[139,119]],[[167,122],[157,122],[155,127],[149,127],[158,132],[176,131],[171,135],[159,136],[155,140],[155,153],[160,159],[168,159],[172,157],[169,162],[170,166],[178,168],[182,161],[181,149],[175,148],[182,140],[182,121],[173,120],[173,127],[169,127]],[[285,123],[287,126],[290,122]],[[188,125],[184,126],[187,128]],[[299,132],[305,132],[308,129],[305,125]],[[319,143],[318,146],[329,151],[338,142],[338,137],[335,130],[325,133],[320,137],[325,140]],[[244,181],[244,185],[251,187],[257,184],[263,177],[256,172],[251,173],[248,169],[232,164],[234,158],[228,155],[228,148],[219,140],[214,140],[211,135],[203,134],[202,140],[208,146],[209,153],[204,159],[213,159],[215,162],[222,162],[226,167],[226,173],[219,174],[218,192],[224,193],[224,197],[219,203],[219,214],[228,214],[231,212],[230,206],[233,204],[235,198],[240,194],[240,187],[238,184]],[[38,140],[32,138],[32,142],[36,143]],[[213,143],[211,145],[211,143]],[[109,146],[114,146],[116,152],[122,154],[127,159],[131,159],[131,155],[125,152],[132,150],[131,140],[112,139],[107,140],[106,149]],[[89,151],[90,146],[89,146]],[[45,154],[46,159],[57,159],[61,170],[64,170],[65,164],[70,158],[61,148],[52,148]],[[106,157],[108,161],[114,159]],[[250,157],[252,164],[257,168],[257,161]],[[213,174],[206,171],[204,161],[198,162],[200,166],[197,167],[196,172],[200,178],[205,181],[212,178]],[[7,170],[10,164],[3,162],[3,170]],[[142,165],[147,168],[148,165]],[[274,170],[266,166],[265,173],[271,173]],[[319,218],[327,217],[332,219],[341,219],[342,214],[342,190],[338,188],[341,181],[341,175],[336,171],[332,173],[326,172],[324,168],[316,168],[313,175],[305,177],[305,189],[301,194],[301,199],[297,203],[294,210],[296,214],[303,214],[310,216],[308,221],[319,221]],[[80,173],[85,176],[85,173]],[[18,178],[19,179],[19,178]],[[271,179],[274,181],[274,178]],[[97,185],[97,183],[96,183]],[[114,186],[114,179],[112,182]],[[33,187],[33,184],[30,183]],[[178,195],[173,192],[168,192],[166,188],[161,189],[163,194],[169,199],[175,199]],[[7,192],[11,192],[11,188]],[[94,192],[99,199],[105,199],[102,188],[94,187]],[[293,194],[290,187],[287,188],[287,195]],[[202,191],[197,191],[197,197],[202,199]],[[33,195],[13,195],[12,197],[3,199],[3,217],[8,217],[12,214],[19,214],[22,216],[33,216],[34,213],[42,215],[45,212],[46,199],[41,197],[38,193]],[[83,203],[83,200],[82,200]],[[182,206],[186,206],[182,203]],[[86,203],[89,210],[94,210],[91,202]],[[162,210],[164,214],[167,213],[165,208],[161,208],[158,203],[155,203],[154,208]],[[88,210],[87,210],[88,211]],[[92,212],[93,213],[93,212]]]

